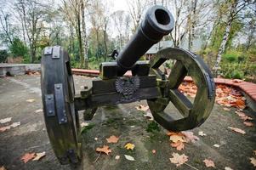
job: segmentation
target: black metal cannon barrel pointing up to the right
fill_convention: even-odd
[[[117,56],[118,76],[131,69],[136,61],[174,28],[174,17],[167,8],[149,8],[134,36]]]

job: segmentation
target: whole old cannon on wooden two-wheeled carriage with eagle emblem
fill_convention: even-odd
[[[100,77],[80,94],[75,94],[71,61],[64,48],[43,49],[43,113],[50,143],[61,164],[76,164],[82,159],[78,111],[84,111],[84,118],[90,120],[100,106],[146,99],[155,121],[168,130],[183,131],[205,122],[213,109],[215,85],[200,56],[181,48],[163,48],[150,62],[139,60],[173,28],[174,17],[167,8],[149,8],[117,60],[102,63]],[[168,59],[175,63],[167,76],[160,66]],[[125,76],[127,71],[131,71],[131,76]],[[193,102],[178,89],[187,75],[197,87]],[[169,103],[174,104],[182,118],[166,113]]]

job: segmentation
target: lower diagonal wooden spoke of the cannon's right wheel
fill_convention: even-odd
[[[179,110],[179,112],[183,116],[188,116],[191,112],[193,105],[191,101],[185,97],[184,94],[181,94],[178,89],[169,90],[170,101],[174,104],[174,106]]]

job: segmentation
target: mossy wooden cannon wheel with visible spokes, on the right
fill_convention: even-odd
[[[168,77],[159,69],[167,59],[176,60]],[[164,48],[151,61],[151,73],[156,75],[162,93],[160,98],[147,100],[156,122],[172,131],[191,129],[205,122],[213,109],[215,85],[211,71],[198,55],[180,48]],[[197,87],[193,104],[178,89],[186,75],[193,79]],[[174,104],[183,118],[175,120],[164,111],[169,102]]]

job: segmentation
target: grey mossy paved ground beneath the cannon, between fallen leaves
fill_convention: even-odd
[[[90,80],[75,76],[75,82],[78,92],[82,85],[89,84]],[[19,127],[0,133],[0,167],[4,165],[7,169],[15,170],[70,169],[69,166],[60,166],[54,157],[44,127],[43,112],[35,112],[42,109],[40,77],[0,78],[0,96],[0,119],[13,117],[13,122],[20,122]],[[35,101],[28,103],[26,99]],[[141,103],[145,104],[145,101]],[[160,132],[156,133],[146,132],[150,121],[135,109],[136,105],[139,105],[139,102],[98,109],[90,122],[93,128],[82,133],[84,170],[176,169],[177,167],[169,161],[173,152],[189,156],[187,163],[200,170],[207,169],[202,162],[204,159],[213,160],[216,169],[254,169],[249,157],[252,157],[253,150],[256,150],[256,128],[246,127],[236,116],[236,109],[224,111],[223,107],[215,105],[208,120],[192,131],[196,135],[203,131],[207,136],[199,137],[200,140],[195,144],[185,144],[185,150],[178,151],[170,146],[164,129],[161,128]],[[174,106],[169,105],[168,111],[174,113]],[[256,119],[252,112],[244,112]],[[253,123],[255,124],[255,121]],[[246,134],[233,133],[227,128],[229,126],[240,127]],[[99,154],[95,152],[95,148],[106,144],[105,138],[110,135],[120,136],[117,144],[109,144],[112,155],[101,154],[97,159]],[[123,148],[127,142],[135,144],[133,151]],[[213,144],[219,144],[220,147],[215,148]],[[156,154],[152,154],[151,150],[156,150]],[[26,152],[42,151],[46,151],[46,156],[41,161],[29,161],[26,164],[20,161],[20,157]],[[134,156],[136,161],[127,161],[124,154]],[[117,155],[121,156],[120,160],[115,160]],[[192,168],[182,165],[177,169]]]

